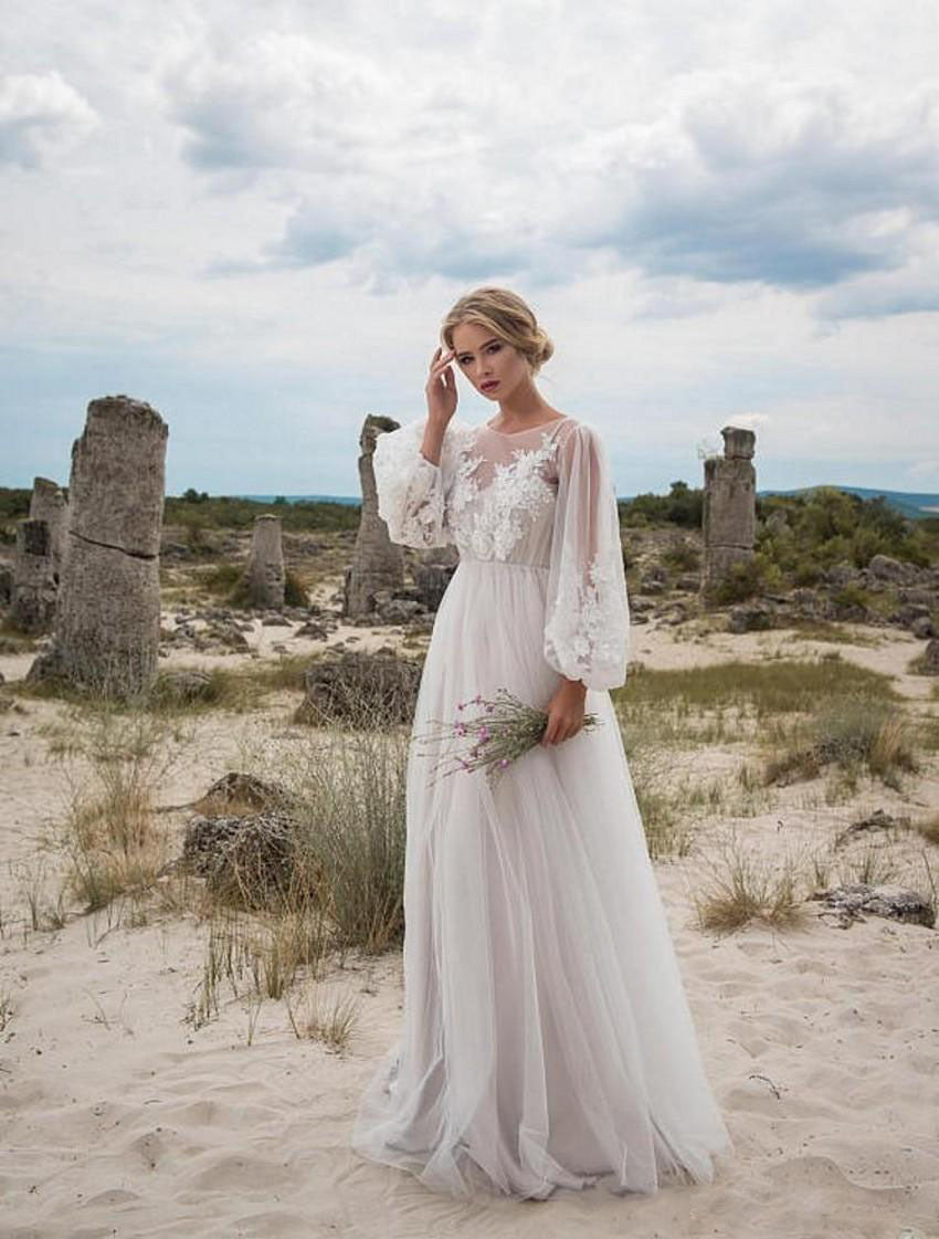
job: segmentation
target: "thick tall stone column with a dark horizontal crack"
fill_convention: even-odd
[[[88,405],[84,432],[72,445],[52,647],[30,679],[57,675],[120,698],[154,684],[167,435],[142,400],[115,395]]]

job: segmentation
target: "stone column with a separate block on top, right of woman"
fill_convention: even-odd
[[[756,435],[738,426],[725,426],[721,435],[723,456],[711,456],[704,462],[705,564],[701,590],[705,593],[720,585],[735,564],[746,564],[751,559],[756,536]]]

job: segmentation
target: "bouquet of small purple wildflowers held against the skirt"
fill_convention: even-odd
[[[470,706],[478,706],[474,716],[463,712]],[[585,714],[583,730],[600,726],[600,721],[596,714]],[[508,689],[499,689],[493,701],[479,694],[468,701],[457,701],[453,722],[437,719],[431,722],[435,724],[434,731],[413,738],[434,746],[442,741],[457,742],[456,751],[452,743],[445,746],[435,769],[448,767],[443,774],[484,769],[489,783],[496,784],[508,766],[539,743],[548,726],[548,711],[526,705]]]

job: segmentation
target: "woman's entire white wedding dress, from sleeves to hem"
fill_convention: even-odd
[[[391,539],[460,550],[414,732],[500,688],[544,707],[559,673],[583,680],[601,725],[494,787],[434,778],[437,756],[411,746],[404,1023],[352,1147],[453,1196],[710,1182],[732,1146],[607,691],[629,617],[602,441],[574,418],[517,434],[453,419],[432,465],[422,434],[382,434],[373,457]]]

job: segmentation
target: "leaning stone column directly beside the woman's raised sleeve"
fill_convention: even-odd
[[[362,616],[374,610],[377,590],[399,590],[404,585],[404,550],[388,536],[388,525],[378,514],[378,491],[372,456],[379,434],[398,430],[391,418],[368,414],[359,435],[359,517],[352,564],[346,570],[343,615]]]

